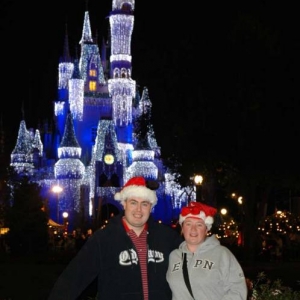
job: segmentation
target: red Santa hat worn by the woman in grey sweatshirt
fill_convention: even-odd
[[[216,214],[217,209],[203,204],[201,202],[190,202],[190,204],[181,209],[179,215],[179,224],[182,225],[186,218],[196,218],[202,219],[208,230],[211,229],[212,224],[214,223],[214,215]]]

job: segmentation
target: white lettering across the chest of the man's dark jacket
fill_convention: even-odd
[[[134,249],[122,251],[119,255],[119,263],[122,266],[130,266],[133,264],[137,265],[138,261],[139,261],[139,258]],[[149,262],[161,263],[163,261],[164,261],[163,253],[156,251],[156,250],[148,249],[148,263]]]

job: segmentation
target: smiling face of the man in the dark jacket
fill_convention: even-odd
[[[131,229],[144,228],[148,221],[152,205],[148,200],[139,197],[131,197],[124,201],[125,219]]]

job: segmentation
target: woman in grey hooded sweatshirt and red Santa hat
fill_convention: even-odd
[[[173,300],[247,299],[246,279],[237,259],[215,235],[208,236],[215,214],[215,208],[200,202],[181,210],[185,241],[170,254],[167,272]]]

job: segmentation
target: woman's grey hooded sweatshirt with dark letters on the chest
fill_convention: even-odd
[[[232,254],[212,235],[191,253],[182,242],[169,258],[167,280],[172,300],[193,300],[183,278],[183,254],[187,254],[190,283],[195,300],[246,300],[244,272]]]

